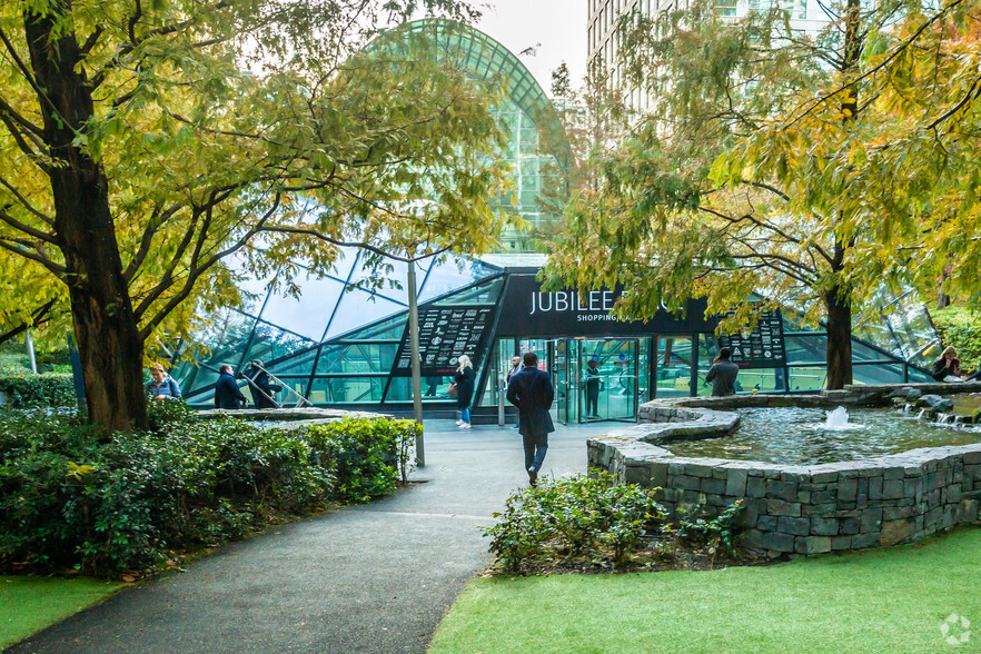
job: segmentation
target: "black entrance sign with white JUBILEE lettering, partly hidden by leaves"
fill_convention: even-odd
[[[717,321],[705,318],[705,300],[691,300],[684,317],[660,310],[646,323],[621,320],[610,315],[621,293],[620,287],[546,291],[535,275],[508,275],[497,336],[650,336],[715,330]]]

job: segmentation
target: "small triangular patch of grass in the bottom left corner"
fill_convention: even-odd
[[[98,604],[120,587],[86,577],[0,576],[0,650]]]

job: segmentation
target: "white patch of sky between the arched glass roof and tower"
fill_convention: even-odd
[[[483,0],[488,7],[477,29],[518,56],[552,95],[552,71],[565,61],[574,86],[586,73],[588,0]],[[541,43],[539,47],[535,47]],[[521,54],[526,48],[536,54]]]

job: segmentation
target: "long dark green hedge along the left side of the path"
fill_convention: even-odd
[[[198,420],[177,402],[150,415],[150,433],[106,436],[76,417],[0,414],[0,569],[113,576],[335,498],[370,499],[395,489],[408,433],[367,419],[261,429]]]

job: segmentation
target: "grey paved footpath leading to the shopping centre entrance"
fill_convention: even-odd
[[[559,426],[543,474],[584,472],[608,429]],[[489,562],[477,527],[527,484],[509,427],[427,422],[426,463],[425,484],[224,547],[8,652],[425,652]]]

